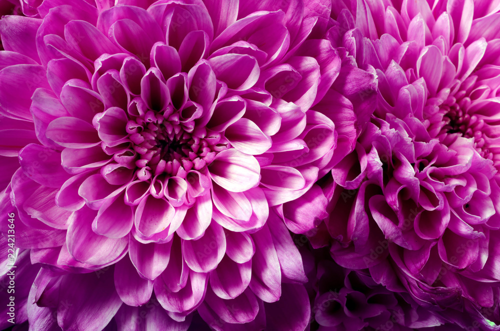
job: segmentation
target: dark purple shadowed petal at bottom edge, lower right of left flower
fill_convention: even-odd
[[[301,284],[283,283],[279,301],[264,303],[264,306],[266,329],[269,330],[302,331],[310,319],[309,297]]]

